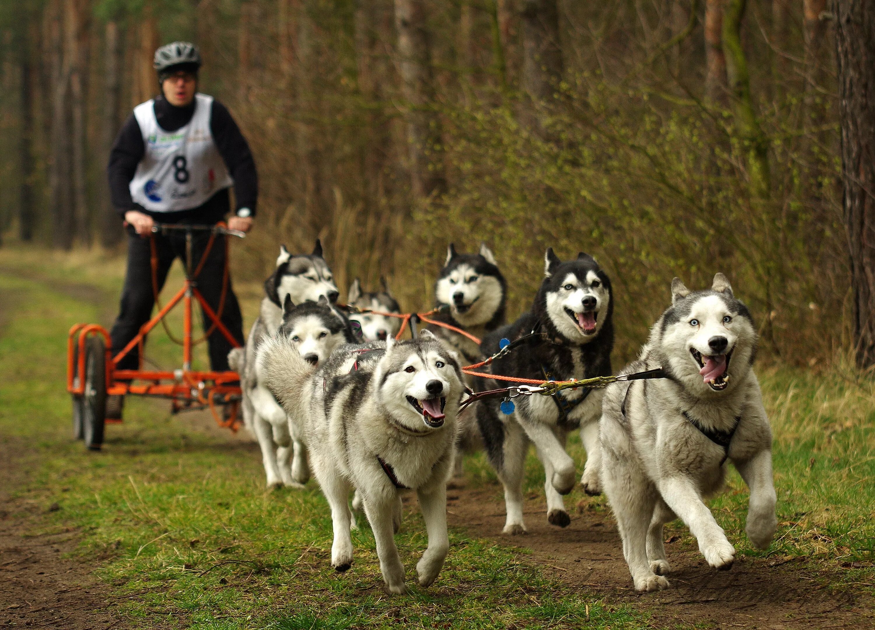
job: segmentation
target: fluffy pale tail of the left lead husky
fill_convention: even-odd
[[[258,349],[255,367],[258,380],[264,383],[290,417],[306,415],[310,396],[310,377],[313,365],[297,351],[291,339],[285,336],[268,337]]]

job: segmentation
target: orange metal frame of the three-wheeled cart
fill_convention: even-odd
[[[206,255],[205,255],[206,256]],[[226,262],[227,264],[227,262]],[[200,270],[200,269],[199,269]],[[207,304],[207,300],[197,290],[193,278],[189,277],[186,270],[186,281],[182,288],[172,297],[158,314],[140,327],[140,332],[121,351],[112,355],[113,348],[109,338],[109,332],[97,324],[75,324],[67,333],[66,339],[66,390],[70,394],[83,395],[85,393],[85,342],[89,335],[100,334],[106,345],[106,384],[107,395],[147,395],[170,398],[173,402],[173,410],[190,408],[193,404],[208,407],[213,416],[222,427],[232,431],[240,428],[239,409],[241,388],[238,385],[228,385],[229,382],[240,380],[240,375],[233,371],[210,372],[192,370],[192,305],[196,300],[207,314],[215,329],[228,339],[234,347],[240,347],[240,343],[234,338],[228,328]],[[165,318],[167,313],[173,310],[179,302],[183,303],[183,344],[182,369],[170,371],[149,371],[143,369],[143,346],[146,335]],[[206,325],[206,323],[205,323]],[[139,368],[136,370],[117,369],[119,361],[131,350],[138,347]],[[75,352],[78,350],[78,353]],[[81,374],[76,381],[76,374]],[[134,384],[133,381],[141,381]],[[221,397],[218,404],[231,404],[231,416],[223,420],[216,410],[216,395]],[[111,421],[107,421],[111,422]]]

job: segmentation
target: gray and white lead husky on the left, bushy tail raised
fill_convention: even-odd
[[[449,549],[446,480],[463,393],[455,353],[423,331],[415,341],[340,346],[314,370],[284,336],[258,354],[264,382],[290,418],[304,426],[312,470],[331,506],[332,566],[353,562],[350,491],[360,494],[374,531],[388,590],[402,593],[395,547],[402,488],[416,490],[428,548],[416,565],[419,584],[434,582]]]

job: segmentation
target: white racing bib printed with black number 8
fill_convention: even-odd
[[[130,180],[130,196],[151,212],[191,210],[234,184],[210,131],[213,97],[194,97],[192,120],[176,131],[158,125],[154,99],[134,108],[146,151]]]

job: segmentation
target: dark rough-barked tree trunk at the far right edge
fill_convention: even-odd
[[[844,224],[857,364],[875,365],[875,5],[831,0],[836,19]]]

